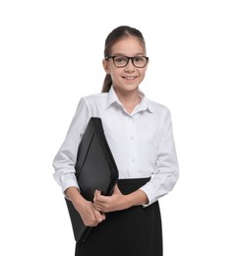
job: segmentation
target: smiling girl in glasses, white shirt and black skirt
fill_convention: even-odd
[[[170,112],[139,89],[149,64],[143,34],[121,26],[105,40],[102,93],[81,98],[53,166],[54,178],[86,225],[76,256],[162,256],[158,199],[178,180]],[[111,196],[85,200],[75,176],[77,150],[91,116],[102,119],[119,169]]]

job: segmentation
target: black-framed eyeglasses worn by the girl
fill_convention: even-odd
[[[132,63],[136,68],[144,68],[149,61],[149,57],[146,56],[106,56],[105,59],[113,59],[113,63],[117,68],[126,67],[130,59],[132,60]]]

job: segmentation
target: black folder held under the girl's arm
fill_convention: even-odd
[[[91,117],[81,140],[75,165],[82,196],[93,200],[94,191],[110,196],[118,180],[118,168],[104,135],[102,121]],[[86,226],[72,202],[65,198],[76,241],[86,241],[91,226]]]

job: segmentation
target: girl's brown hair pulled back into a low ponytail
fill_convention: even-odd
[[[142,32],[138,31],[135,28],[131,28],[129,26],[120,26],[114,29],[112,32],[108,34],[108,36],[105,39],[105,46],[104,46],[104,58],[106,56],[110,55],[112,46],[121,38],[125,38],[128,36],[136,36],[141,43],[144,45],[146,49],[146,42],[145,38],[142,34]],[[110,87],[112,85],[112,80],[110,74],[106,74],[104,81],[103,81],[103,87],[102,87],[102,93],[107,93],[110,90]]]

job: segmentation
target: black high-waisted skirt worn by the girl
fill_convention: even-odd
[[[119,189],[129,194],[150,178],[120,179]],[[158,202],[149,207],[106,214],[106,220],[92,227],[87,241],[76,243],[75,256],[162,256],[162,228]]]

